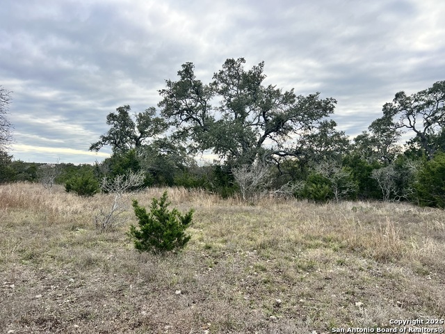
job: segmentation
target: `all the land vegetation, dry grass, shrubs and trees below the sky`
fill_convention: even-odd
[[[244,63],[227,59],[209,84],[186,63],[159,112],[109,113],[90,150],[113,154],[94,166],[13,161],[0,138],[6,333],[445,318],[445,81],[396,93],[350,140],[334,98],[264,86],[264,63]],[[209,152],[218,160],[198,164]]]

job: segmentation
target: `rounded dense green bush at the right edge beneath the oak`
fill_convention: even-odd
[[[445,208],[445,153],[439,152],[426,161],[414,187],[420,205]]]

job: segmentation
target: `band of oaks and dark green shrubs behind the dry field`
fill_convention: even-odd
[[[144,173],[143,186],[239,193],[251,202],[273,193],[445,207],[445,81],[412,95],[396,93],[382,116],[350,140],[330,118],[334,98],[265,86],[264,62],[244,65],[243,58],[227,59],[205,84],[193,63],[185,63],[177,80],[159,90],[159,111],[131,113],[124,105],[108,114],[108,132],[89,149],[110,146],[111,157],[95,166],[59,164],[63,173],[54,180],[68,191],[98,189],[104,177]],[[404,145],[403,134],[410,134]],[[218,159],[197,164],[197,154],[206,152]],[[21,164],[1,150],[1,181],[23,178]],[[35,166],[31,181],[39,170],[44,174]]]

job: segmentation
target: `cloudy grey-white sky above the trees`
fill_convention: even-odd
[[[91,164],[106,116],[160,102],[192,62],[207,84],[227,58],[265,62],[264,85],[334,97],[353,138],[382,106],[445,80],[443,0],[3,0],[0,85],[14,159]]]

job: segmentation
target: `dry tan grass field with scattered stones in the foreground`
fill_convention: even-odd
[[[126,200],[149,207],[163,190]],[[97,232],[111,196],[1,185],[0,332],[329,333],[445,319],[443,210],[168,192],[195,215],[184,251],[160,257],[133,249],[131,210]]]

